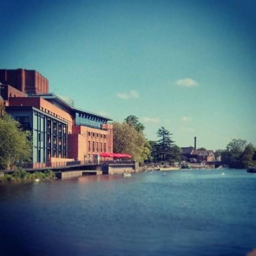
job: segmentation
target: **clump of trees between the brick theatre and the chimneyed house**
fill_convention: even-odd
[[[113,122],[113,151],[131,154],[140,163],[180,161],[180,148],[172,140],[170,131],[161,127],[157,130],[157,141],[147,140],[145,126],[138,117],[129,115],[124,122]]]

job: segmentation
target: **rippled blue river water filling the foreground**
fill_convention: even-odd
[[[85,176],[0,184],[0,255],[246,255],[256,173]]]

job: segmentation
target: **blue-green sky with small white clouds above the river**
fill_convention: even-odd
[[[255,1],[1,1],[0,68],[38,70],[50,91],[148,140],[256,145]]]

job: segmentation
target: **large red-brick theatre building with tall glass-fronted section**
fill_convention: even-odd
[[[27,71],[16,72],[18,78]],[[16,73],[6,72],[9,75]],[[113,125],[108,124],[110,118],[75,108],[54,93],[49,93],[47,79],[42,79],[38,72],[28,74],[35,74],[35,79],[29,80],[29,86],[26,79],[21,79],[23,85],[12,86],[8,83],[19,79],[9,77],[9,82],[7,79],[0,80],[0,92],[6,112],[24,129],[31,131],[33,163],[95,161],[100,152],[113,152]]]

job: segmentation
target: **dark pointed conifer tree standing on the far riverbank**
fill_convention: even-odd
[[[172,134],[167,131],[164,127],[161,127],[157,131],[157,137],[159,140],[154,146],[154,153],[157,161],[172,161],[172,143],[174,142],[171,138]]]

